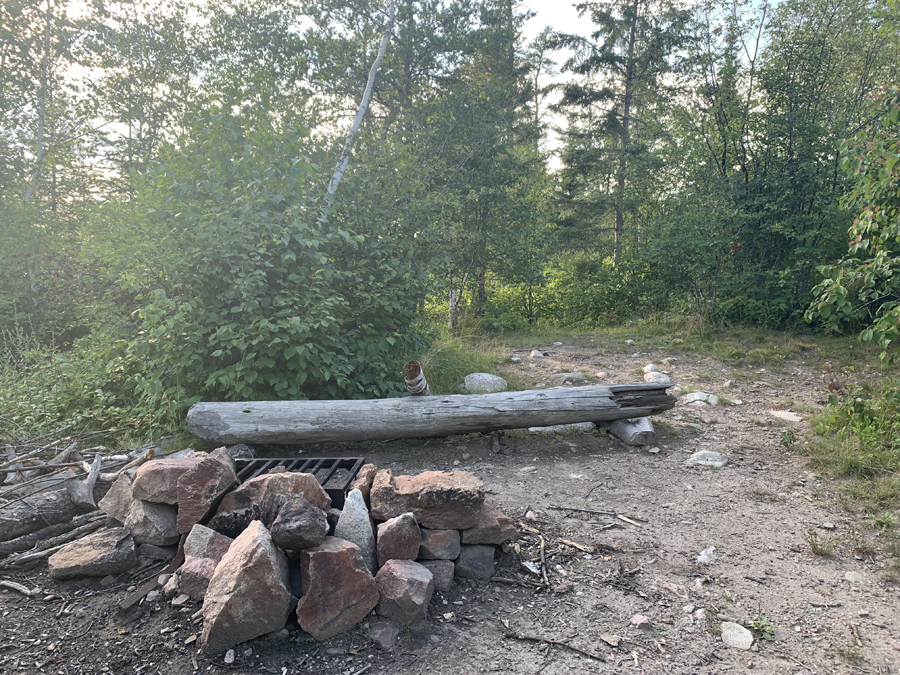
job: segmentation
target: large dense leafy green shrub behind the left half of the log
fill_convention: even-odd
[[[109,368],[182,401],[397,394],[422,290],[407,250],[323,222],[307,132],[201,114],[97,237],[131,334]]]

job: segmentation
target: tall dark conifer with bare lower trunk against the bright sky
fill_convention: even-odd
[[[586,2],[578,11],[596,27],[590,38],[556,37],[558,46],[573,50],[564,70],[576,76],[559,103],[569,116],[563,180],[574,202],[612,214],[618,265],[626,215],[636,208],[629,191],[651,142],[649,117],[684,38],[686,14],[669,0]]]

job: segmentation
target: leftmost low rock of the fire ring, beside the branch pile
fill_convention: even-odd
[[[131,532],[117,527],[73,541],[51,555],[47,562],[50,577],[63,581],[121,574],[137,565],[137,556]]]

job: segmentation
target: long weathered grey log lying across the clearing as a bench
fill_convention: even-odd
[[[655,415],[671,383],[555,387],[364,401],[197,403],[187,421],[215,443],[322,443],[447,436]]]

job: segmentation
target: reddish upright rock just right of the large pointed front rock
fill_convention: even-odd
[[[378,588],[356,544],[326,537],[300,554],[305,594],[297,605],[300,627],[327,640],[362,621],[378,604]]]

